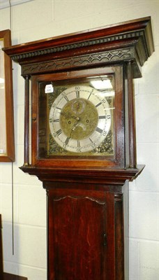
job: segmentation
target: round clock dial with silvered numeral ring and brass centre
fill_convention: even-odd
[[[59,146],[70,152],[86,153],[107,137],[111,113],[102,92],[79,85],[68,87],[54,100],[49,122]]]

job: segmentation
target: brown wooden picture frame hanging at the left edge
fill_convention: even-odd
[[[10,30],[0,31],[0,162],[15,161],[12,62],[3,52],[10,45]]]

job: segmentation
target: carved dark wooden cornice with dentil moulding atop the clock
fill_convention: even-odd
[[[74,34],[46,38],[5,48],[22,65],[22,76],[114,62],[133,62],[133,77],[154,50],[151,18],[121,22]]]

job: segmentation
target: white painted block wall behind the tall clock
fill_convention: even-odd
[[[24,43],[151,15],[156,51],[135,80],[137,157],[144,172],[130,183],[130,280],[158,280],[158,0],[33,0],[11,10],[12,43]],[[0,30],[10,29],[10,10],[0,10]],[[3,217],[5,272],[46,280],[45,190],[24,174],[24,83],[13,64],[15,103],[14,240],[12,255],[12,165],[0,163],[0,213]],[[91,280],[91,279],[88,279]],[[98,279],[97,279],[98,280]]]

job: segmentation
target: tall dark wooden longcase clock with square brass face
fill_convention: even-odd
[[[25,81],[20,168],[47,191],[47,280],[128,280],[125,183],[144,168],[132,80],[153,52],[151,18],[4,51]]]

